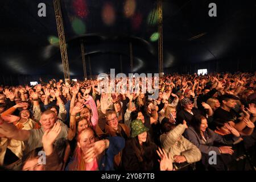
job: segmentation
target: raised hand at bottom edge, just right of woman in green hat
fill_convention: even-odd
[[[166,151],[158,147],[158,150],[156,150],[156,153],[160,157],[161,160],[158,159],[158,162],[160,163],[160,170],[161,171],[172,171],[172,160],[168,158]]]

